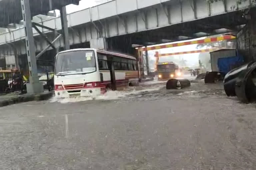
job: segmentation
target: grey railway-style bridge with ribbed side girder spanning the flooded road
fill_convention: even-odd
[[[152,45],[237,32],[251,0],[113,0],[67,15],[71,48],[95,47],[133,53],[132,44]],[[39,24],[61,30],[60,18]],[[54,32],[38,27],[51,40]],[[48,44],[33,29],[36,52]],[[10,47],[7,44],[13,44]],[[63,38],[54,42],[63,47]],[[26,54],[24,28],[0,35],[0,56]],[[51,47],[49,48],[51,49]],[[53,57],[53,56],[52,56]]]

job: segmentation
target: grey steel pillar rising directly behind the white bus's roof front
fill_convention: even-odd
[[[61,20],[63,39],[64,39],[64,50],[68,50],[70,49],[70,45],[69,45],[69,35],[68,35],[67,11],[65,6],[60,9],[60,20]]]

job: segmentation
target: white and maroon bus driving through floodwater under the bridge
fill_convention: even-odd
[[[114,64],[118,90],[139,81],[138,64],[133,56],[79,48],[56,55],[54,86],[55,96],[94,96],[111,88],[110,62]]]

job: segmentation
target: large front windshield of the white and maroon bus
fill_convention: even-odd
[[[96,62],[93,50],[69,51],[57,55],[56,75],[84,74],[94,71],[96,71]]]

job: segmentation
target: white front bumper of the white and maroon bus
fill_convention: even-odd
[[[105,87],[101,88],[84,88],[77,90],[55,90],[55,96],[57,98],[72,98],[72,97],[90,97],[102,95],[106,92]]]

